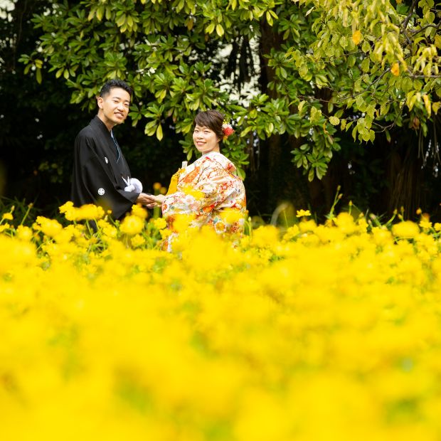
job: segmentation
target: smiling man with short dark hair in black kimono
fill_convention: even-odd
[[[72,201],[75,206],[94,203],[120,219],[134,203],[148,204],[142,184],[130,176],[129,166],[112,132],[129,113],[132,89],[110,80],[97,98],[98,114],[75,139]]]

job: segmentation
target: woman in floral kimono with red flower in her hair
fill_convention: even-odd
[[[164,195],[148,196],[162,206],[162,215],[172,231],[179,230],[183,218],[189,227],[211,225],[218,233],[242,233],[246,199],[242,180],[234,164],[220,153],[220,145],[234,132],[221,112],[199,112],[194,119],[193,142],[201,158],[180,169],[174,176],[176,188]],[[173,187],[171,180],[171,187]]]

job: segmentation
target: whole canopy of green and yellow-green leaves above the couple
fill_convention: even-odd
[[[338,130],[373,142],[376,132],[417,118],[427,132],[427,120],[440,107],[440,9],[433,0],[418,7],[397,3],[54,2],[33,18],[42,35],[36,51],[21,61],[36,72],[48,64],[73,89],[72,102],[90,108],[104,80],[127,80],[135,93],[133,124],[159,140],[171,125],[184,137],[188,159],[196,152],[194,114],[225,112],[238,135],[225,153],[242,175],[256,136],[301,138],[293,162],[309,180],[321,179],[340,149]],[[260,68],[267,73],[267,83],[246,102],[223,76],[228,55],[221,58],[241,39],[260,41]],[[275,42],[270,50],[262,49],[267,39]]]

